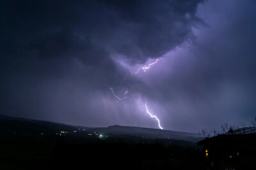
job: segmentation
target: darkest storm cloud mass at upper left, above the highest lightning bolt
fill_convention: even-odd
[[[2,54],[81,58],[91,65],[118,52],[145,62],[193,36],[200,2],[3,1]]]

